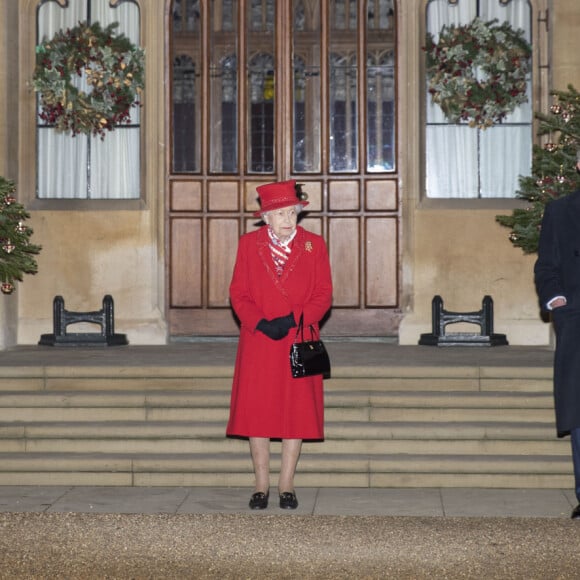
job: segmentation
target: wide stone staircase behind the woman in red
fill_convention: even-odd
[[[251,486],[228,366],[0,367],[0,485]],[[333,367],[309,487],[571,488],[547,367]],[[273,443],[272,469],[279,465]],[[275,473],[273,474],[275,481]]]

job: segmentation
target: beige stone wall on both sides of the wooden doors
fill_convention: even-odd
[[[0,297],[0,348],[35,344],[52,329],[52,300],[65,298],[71,310],[100,308],[105,294],[115,300],[116,330],[132,344],[165,344],[165,211],[167,148],[165,126],[165,2],[141,0],[147,51],[143,109],[143,199],[112,209],[70,204],[66,209],[34,200],[34,63],[36,5],[33,0],[0,0],[0,174],[17,183],[19,200],[30,209],[34,241],[43,250],[39,273],[25,278],[13,295]],[[549,12],[545,95],[550,88],[580,87],[580,7],[577,0],[532,2]],[[398,2],[399,147],[403,203],[399,340],[416,344],[431,330],[431,300],[440,294],[447,308],[477,310],[485,294],[495,306],[495,331],[510,344],[551,341],[539,318],[533,287],[534,256],[525,256],[495,222],[518,202],[434,201],[422,194],[421,110],[424,0]],[[542,34],[547,34],[546,29]],[[549,50],[547,47],[549,46]],[[544,84],[546,84],[544,83]],[[537,95],[537,103],[547,99]],[[542,101],[543,99],[543,101]]]

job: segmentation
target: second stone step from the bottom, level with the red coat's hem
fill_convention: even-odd
[[[0,424],[0,452],[220,453],[242,443],[227,439],[225,423],[215,422]],[[327,422],[318,447],[326,453],[568,454],[563,443],[551,423],[343,421]]]

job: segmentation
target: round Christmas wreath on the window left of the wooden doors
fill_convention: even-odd
[[[101,135],[131,121],[144,87],[144,52],[118,23],[79,23],[36,48],[34,90],[40,118],[59,132]]]

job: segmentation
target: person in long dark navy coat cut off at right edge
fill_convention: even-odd
[[[540,306],[550,311],[556,333],[556,431],[558,437],[570,435],[572,442],[578,500],[572,519],[580,519],[580,190],[546,205],[534,279]]]

